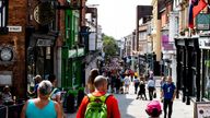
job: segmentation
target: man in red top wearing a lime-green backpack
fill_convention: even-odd
[[[118,102],[107,94],[107,79],[97,75],[94,80],[95,91],[88,94],[77,113],[77,118],[120,118]]]

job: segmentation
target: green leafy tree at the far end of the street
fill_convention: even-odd
[[[118,47],[117,43],[112,36],[103,35],[103,50],[106,57],[116,56]]]

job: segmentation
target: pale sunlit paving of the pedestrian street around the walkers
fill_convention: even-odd
[[[160,87],[158,88],[158,99],[160,98]],[[129,94],[115,94],[118,99],[121,118],[148,118],[145,106],[150,101],[136,99],[133,85],[130,86]],[[148,96],[148,91],[147,91]],[[163,118],[163,114],[161,118]],[[67,118],[75,118],[75,114],[67,114]],[[182,99],[175,99],[173,104],[172,118],[194,118],[194,103],[186,105]]]

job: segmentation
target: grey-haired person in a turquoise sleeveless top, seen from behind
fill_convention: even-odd
[[[26,102],[21,118],[62,118],[60,105],[49,99],[51,88],[48,80],[42,81],[38,85],[38,97]]]

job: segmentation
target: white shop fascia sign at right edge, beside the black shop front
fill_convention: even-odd
[[[199,38],[199,48],[210,49],[210,37],[200,37]]]

